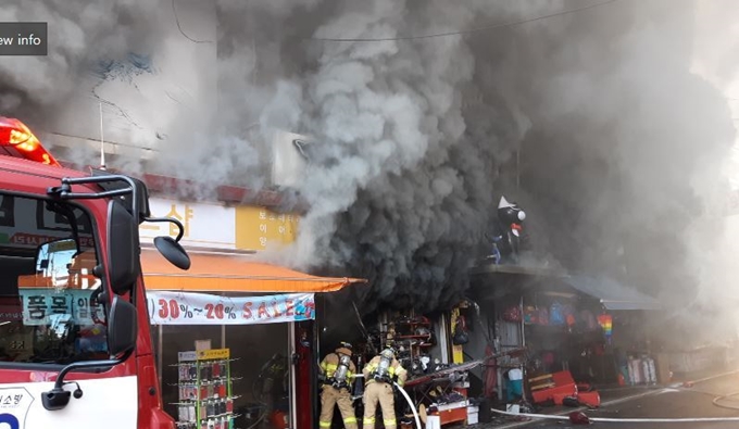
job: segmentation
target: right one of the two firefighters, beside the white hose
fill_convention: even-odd
[[[396,352],[388,348],[375,356],[362,371],[365,379],[364,388],[364,429],[375,428],[377,403],[383,408],[385,429],[398,427],[396,420],[396,402],[392,382],[403,386],[408,373],[396,359]]]

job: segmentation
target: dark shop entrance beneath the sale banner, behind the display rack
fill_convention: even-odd
[[[164,409],[183,420],[183,352],[226,349],[234,426],[287,429],[292,422],[291,323],[236,326],[152,326]],[[180,426],[185,427],[185,426]]]

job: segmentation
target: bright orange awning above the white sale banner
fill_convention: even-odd
[[[253,257],[253,256],[251,256]],[[149,290],[189,292],[334,292],[355,278],[316,277],[250,261],[249,256],[190,252],[190,269],[170,264],[153,249],[141,249],[143,281]]]

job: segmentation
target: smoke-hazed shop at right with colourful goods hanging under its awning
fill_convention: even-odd
[[[550,376],[558,373],[597,386],[659,381],[656,355],[640,329],[660,308],[656,300],[603,278],[497,269],[478,279],[475,294],[492,327],[496,354],[505,354],[494,361],[498,400],[550,388],[537,380],[553,384]],[[523,375],[524,389],[511,374]]]

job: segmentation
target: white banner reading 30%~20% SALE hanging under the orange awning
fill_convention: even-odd
[[[220,296],[209,293],[147,292],[152,325],[258,325],[315,319],[313,293]]]

